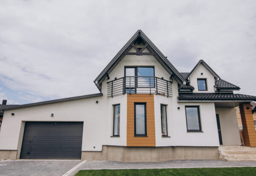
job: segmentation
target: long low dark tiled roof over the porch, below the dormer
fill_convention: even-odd
[[[243,95],[243,94],[218,94],[218,93],[191,93],[191,94],[179,94],[178,100],[234,100],[234,101],[256,101],[255,96]]]

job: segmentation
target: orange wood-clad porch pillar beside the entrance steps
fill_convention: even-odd
[[[245,146],[256,147],[256,131],[250,103],[242,103],[239,105],[239,108],[244,131]]]

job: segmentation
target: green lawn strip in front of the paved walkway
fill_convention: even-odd
[[[256,167],[80,170],[75,176],[256,176]]]

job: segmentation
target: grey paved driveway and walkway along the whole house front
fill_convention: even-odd
[[[79,164],[80,163],[80,164]],[[75,167],[76,166],[76,167]],[[187,167],[256,167],[256,162],[222,160],[172,160],[167,162],[125,163],[81,160],[6,160],[0,162],[0,176],[73,176],[82,169],[187,168]]]

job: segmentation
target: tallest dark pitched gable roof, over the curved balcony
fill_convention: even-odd
[[[145,42],[148,44],[150,48],[154,50],[154,52],[157,54],[157,56],[160,58],[161,62],[163,62],[167,68],[176,75],[176,77],[182,82],[186,82],[186,80],[182,77],[179,71],[171,64],[171,62],[161,53],[161,51],[154,45],[154,43],[149,40],[149,38],[143,33],[143,31],[138,30],[130,40],[122,47],[122,49],[116,54],[116,56],[108,63],[108,65],[102,70],[102,72],[99,74],[98,77],[94,80],[96,86],[100,90],[99,83],[103,81],[103,78],[106,77],[106,74],[109,74],[109,71],[111,71],[112,68],[114,68],[119,61],[122,59],[122,54],[128,49],[128,47],[136,40],[138,37],[141,37]],[[101,90],[100,90],[101,91]]]

